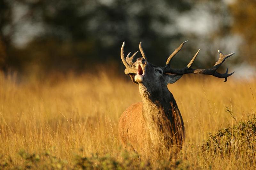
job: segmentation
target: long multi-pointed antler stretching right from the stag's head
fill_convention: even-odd
[[[220,57],[219,60],[214,64],[214,66],[210,69],[193,69],[191,68],[192,63],[195,61],[196,56],[198,55],[200,49],[197,51],[197,53],[194,55],[194,57],[192,58],[192,60],[188,63],[188,65],[186,67],[184,67],[183,69],[172,69],[170,66],[170,62],[173,58],[174,55],[176,55],[180,49],[182,48],[182,46],[186,43],[187,41],[183,42],[179,48],[177,48],[171,55],[170,57],[167,59],[166,61],[166,65],[164,66],[164,73],[171,73],[171,74],[177,74],[177,75],[182,75],[182,74],[188,74],[188,73],[194,73],[194,74],[207,74],[207,75],[212,75],[214,77],[218,77],[218,78],[225,78],[225,81],[227,81],[228,77],[231,76],[233,73],[229,73],[228,74],[228,69],[225,73],[221,74],[219,72],[217,72],[216,70],[221,66],[222,63],[224,63],[224,61],[230,57],[231,55],[235,54],[235,52],[228,54],[228,55],[224,55],[222,54],[222,52],[220,50],[218,50],[218,52],[220,53]]]

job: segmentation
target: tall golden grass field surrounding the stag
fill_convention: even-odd
[[[236,124],[235,119],[246,121],[248,114],[255,113],[256,79],[240,80],[231,76],[223,82],[223,79],[212,76],[185,75],[168,88],[186,123],[184,147],[176,160],[170,160],[172,166],[169,167],[256,168],[256,161],[248,163],[248,157],[255,158],[255,155],[247,154],[247,151],[235,155],[236,150],[241,149],[239,144],[230,154],[202,153],[200,150],[203,141],[209,137],[208,132],[215,133],[228,124]],[[64,162],[52,166],[53,169],[70,169],[74,167],[76,155],[91,157],[92,153],[108,154],[111,159],[122,161],[118,119],[125,108],[140,100],[136,84],[106,72],[21,82],[17,82],[15,76],[1,74],[2,168],[4,163],[7,169],[21,168],[26,161],[18,154],[21,150],[35,153],[45,161],[45,153],[49,153]],[[226,107],[235,119],[226,112]],[[162,159],[161,156],[150,159],[149,169],[161,168]],[[140,162],[140,159],[132,161]],[[40,166],[44,161],[38,164]]]

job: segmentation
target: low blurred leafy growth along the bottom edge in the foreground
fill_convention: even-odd
[[[0,169],[95,169],[95,170],[121,170],[121,169],[188,169],[189,165],[182,159],[173,161],[159,161],[157,165],[150,165],[140,160],[139,155],[132,152],[122,152],[121,160],[111,157],[109,154],[99,156],[92,154],[91,157],[75,155],[73,162],[68,165],[65,160],[57,159],[49,152],[43,155],[29,154],[20,150],[20,162],[15,165],[12,159],[0,159]]]

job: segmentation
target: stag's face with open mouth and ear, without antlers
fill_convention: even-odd
[[[146,87],[163,87],[168,83],[174,83],[181,77],[164,74],[162,67],[154,66],[142,57],[136,60],[135,66],[137,70],[137,74],[134,77],[135,82]]]

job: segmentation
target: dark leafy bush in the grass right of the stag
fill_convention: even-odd
[[[226,110],[232,115],[232,112]],[[236,120],[236,118],[232,115]],[[248,115],[247,122],[237,122],[218,130],[214,135],[209,134],[208,140],[201,147],[202,152],[218,154],[223,157],[235,156],[236,159],[245,155],[248,161],[255,160],[256,151],[256,115]]]

